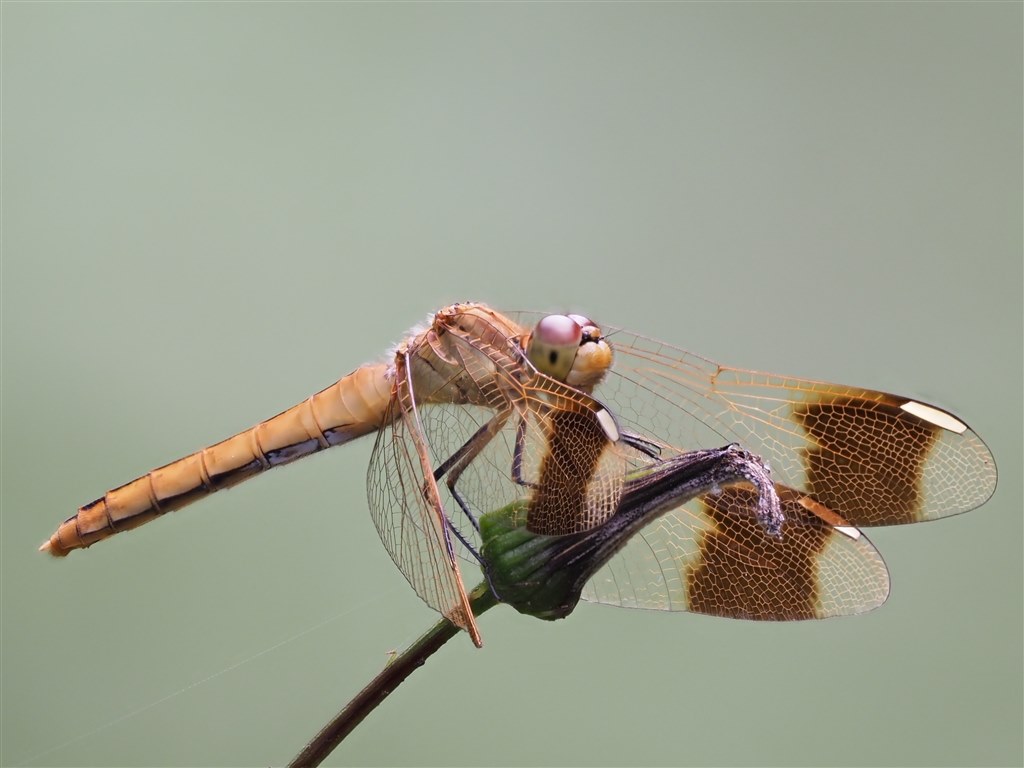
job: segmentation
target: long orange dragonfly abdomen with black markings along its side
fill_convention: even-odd
[[[271,467],[375,432],[390,396],[387,367],[362,366],[271,419],[108,490],[80,507],[40,549],[62,557]]]

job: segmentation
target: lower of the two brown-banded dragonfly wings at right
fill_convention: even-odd
[[[780,537],[758,522],[757,490],[731,485],[649,523],[583,599],[758,621],[861,613],[885,602],[889,572],[867,538],[799,492],[777,489]]]

